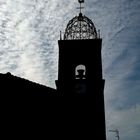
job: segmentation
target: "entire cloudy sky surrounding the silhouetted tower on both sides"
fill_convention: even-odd
[[[0,73],[55,87],[60,30],[77,0],[0,0]],[[140,1],[85,0],[103,38],[107,140],[140,140]]]

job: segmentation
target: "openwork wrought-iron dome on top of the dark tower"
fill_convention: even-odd
[[[96,38],[98,38],[98,35],[94,23],[86,16],[83,16],[82,13],[69,21],[64,34],[64,40]]]

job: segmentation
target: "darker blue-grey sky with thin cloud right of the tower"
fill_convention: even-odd
[[[140,2],[94,0],[86,13],[103,38],[107,138],[120,130],[123,140],[140,138]],[[98,27],[99,26],[99,27]]]

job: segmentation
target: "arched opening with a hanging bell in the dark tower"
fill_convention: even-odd
[[[78,65],[75,69],[75,79],[86,78],[86,67],[84,65]]]

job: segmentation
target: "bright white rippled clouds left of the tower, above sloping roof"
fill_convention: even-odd
[[[58,69],[57,40],[67,19],[64,15],[69,15],[73,6],[73,2],[69,1],[68,5],[58,0],[2,3],[0,72],[10,71],[54,87]]]

